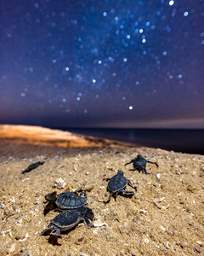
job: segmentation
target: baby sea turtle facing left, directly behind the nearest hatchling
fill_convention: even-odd
[[[77,209],[88,204],[86,201],[87,194],[84,191],[82,191],[80,195],[71,192],[65,192],[57,195],[57,192],[54,191],[45,195],[45,199],[47,201],[54,202],[54,204],[61,210]]]

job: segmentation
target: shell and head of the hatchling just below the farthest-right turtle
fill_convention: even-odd
[[[111,177],[110,182],[108,183],[108,189],[111,192],[116,192],[121,189],[124,189],[127,185],[127,179],[123,176],[123,172],[119,171],[113,177]]]

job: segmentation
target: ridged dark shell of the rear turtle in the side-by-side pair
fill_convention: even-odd
[[[60,209],[77,209],[87,204],[85,198],[71,192],[65,192],[58,195],[55,204]]]

